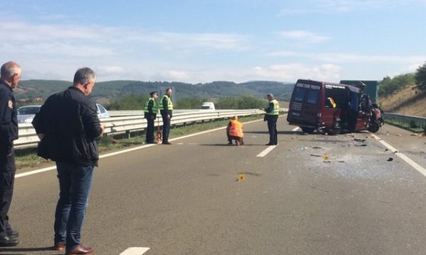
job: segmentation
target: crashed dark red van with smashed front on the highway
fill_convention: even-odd
[[[372,112],[375,111],[362,86],[299,79],[290,99],[287,121],[307,133],[377,132],[381,123],[373,120]]]

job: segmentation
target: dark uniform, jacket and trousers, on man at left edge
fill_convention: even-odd
[[[15,179],[13,140],[18,139],[18,120],[13,90],[0,80],[0,237],[8,237],[9,207]]]

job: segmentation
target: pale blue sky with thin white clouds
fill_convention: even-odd
[[[23,79],[373,79],[426,61],[426,0],[0,2],[1,63]]]

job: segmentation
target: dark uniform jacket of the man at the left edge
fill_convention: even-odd
[[[0,80],[0,157],[11,154],[13,140],[18,139],[18,120],[13,90]]]

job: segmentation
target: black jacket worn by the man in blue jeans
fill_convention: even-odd
[[[70,86],[53,94],[33,119],[37,134],[44,134],[38,154],[55,162],[97,166],[97,137],[102,134],[97,107],[80,89]]]

